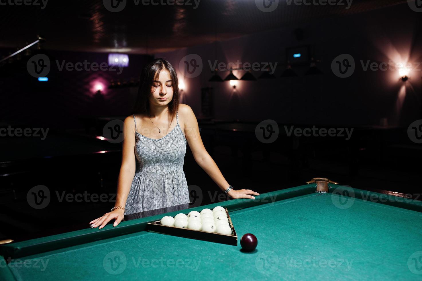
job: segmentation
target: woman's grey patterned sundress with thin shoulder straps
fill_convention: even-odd
[[[127,196],[125,214],[189,203],[183,171],[186,139],[179,125],[160,139],[138,133],[135,115],[136,173]]]

